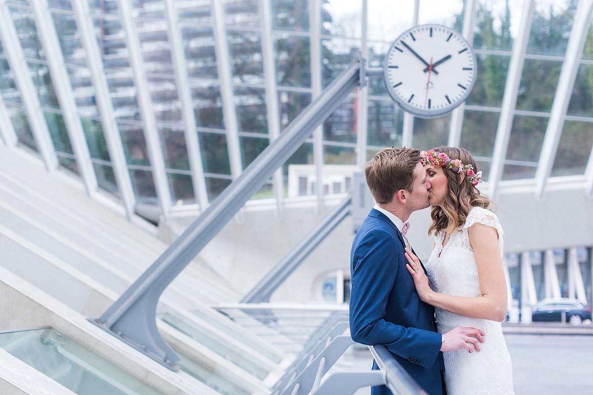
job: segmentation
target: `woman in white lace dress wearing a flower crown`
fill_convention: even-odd
[[[455,326],[486,333],[480,352],[444,353],[447,394],[512,395],[511,357],[500,326],[507,302],[503,232],[488,209],[490,200],[476,189],[481,172],[463,148],[423,151],[422,164],[432,184],[429,234],[435,233],[435,248],[426,274],[406,249],[408,270],[420,299],[436,307],[441,334]]]

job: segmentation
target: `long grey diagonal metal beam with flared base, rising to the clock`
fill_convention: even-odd
[[[361,61],[340,73],[321,95],[235,179],[165,252],[93,322],[155,361],[177,370],[178,357],[157,329],[157,302],[165,288],[196,257],[359,83]]]

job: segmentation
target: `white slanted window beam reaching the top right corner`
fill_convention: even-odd
[[[556,95],[550,111],[544,143],[541,147],[540,160],[535,171],[535,197],[537,199],[544,198],[547,180],[552,172],[554,159],[556,159],[566,111],[579,69],[579,60],[581,60],[587,33],[591,27],[591,9],[593,9],[593,0],[581,0],[575,11],[575,21],[570,31],[566,56],[556,86]]]

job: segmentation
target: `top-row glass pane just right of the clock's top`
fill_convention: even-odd
[[[474,48],[489,50],[511,50],[512,28],[521,20],[520,3],[512,4],[506,0],[482,0],[476,12],[476,32]],[[516,28],[514,29],[517,30]],[[508,63],[508,61],[507,61]],[[480,74],[478,73],[478,76]]]

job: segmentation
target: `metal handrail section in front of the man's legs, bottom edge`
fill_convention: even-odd
[[[428,395],[424,388],[396,361],[381,344],[369,345],[371,354],[380,370],[385,372],[385,385],[393,395]]]

